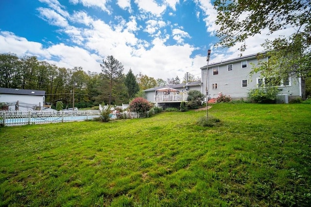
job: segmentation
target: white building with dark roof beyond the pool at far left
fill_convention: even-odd
[[[44,98],[44,90],[0,87],[0,102],[7,104],[9,110],[41,110]]]

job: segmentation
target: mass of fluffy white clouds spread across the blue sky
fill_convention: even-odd
[[[58,27],[57,31],[68,35],[69,38],[63,43],[50,43],[49,46],[43,47],[41,43],[0,31],[0,52],[15,52],[19,56],[36,55],[59,67],[81,66],[86,71],[95,72],[101,71],[99,63],[102,59],[113,55],[121,61],[125,73],[131,68],[135,74],[142,72],[155,79],[164,80],[176,75],[181,78],[186,72],[199,75],[200,67],[206,64],[206,54],[192,56],[198,48],[187,43],[186,40],[192,39],[190,34],[175,22],[166,22],[161,17],[166,9],[170,9],[169,12],[175,10],[179,0],[163,0],[162,4],[156,3],[155,0],[134,0],[142,11],[135,15],[130,13],[130,0],[117,0],[115,3],[128,11],[130,16],[125,19],[112,15],[114,23],[91,16],[85,10],[69,12],[57,0],[40,1],[46,3],[48,8],[39,7],[37,9],[39,17]],[[70,0],[70,2],[100,8],[109,14],[113,12],[107,6],[107,2],[111,2],[108,0]],[[197,10],[193,11],[193,14],[197,18],[204,18],[208,32],[215,32],[217,26],[214,21],[217,13],[210,1],[195,2]],[[173,16],[172,13],[170,17]],[[140,39],[138,33],[143,33],[147,37]],[[249,47],[243,54],[262,51],[260,44],[265,38],[267,36],[264,33],[248,38],[246,44]],[[169,42],[172,39],[174,44]],[[235,58],[240,54],[237,50],[239,45],[228,50],[217,49],[213,45],[207,47],[212,49],[210,62]]]

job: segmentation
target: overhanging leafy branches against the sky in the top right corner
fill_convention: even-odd
[[[311,44],[310,0],[215,0],[216,24],[220,38],[218,46],[232,47],[248,37],[268,29],[268,35],[289,27],[297,28],[308,44]],[[292,34],[295,35],[296,31]],[[245,42],[240,48],[244,51]]]

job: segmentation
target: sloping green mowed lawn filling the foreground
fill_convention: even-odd
[[[311,206],[311,105],[0,128],[0,206]]]

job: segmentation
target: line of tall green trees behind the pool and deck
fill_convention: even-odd
[[[49,104],[62,101],[72,107],[74,100],[75,107],[83,108],[102,103],[128,104],[134,97],[143,97],[144,89],[180,84],[178,76],[164,81],[142,73],[135,75],[132,69],[124,74],[123,65],[112,55],[103,59],[100,66],[102,72],[86,72],[82,67],[57,67],[36,56],[2,53],[0,87],[45,90],[45,101]],[[196,80],[193,75],[188,76],[189,82]]]

